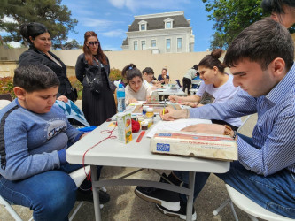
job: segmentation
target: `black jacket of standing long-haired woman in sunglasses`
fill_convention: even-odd
[[[95,77],[98,78],[98,80],[101,82],[101,71],[102,68],[105,69],[106,76],[107,76],[107,81],[108,81],[108,86],[110,88],[110,80],[109,80],[109,75],[110,75],[110,63],[109,59],[106,57],[107,65],[104,65],[103,67],[101,66],[101,63],[99,61],[99,64],[97,65],[97,62],[93,60],[93,65],[89,65],[87,60],[85,59],[84,54],[81,54],[76,62],[75,70],[76,70],[76,78],[82,83],[83,87],[89,87],[89,82],[86,80],[86,76],[91,82]]]

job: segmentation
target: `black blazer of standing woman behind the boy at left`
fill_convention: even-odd
[[[28,50],[26,50],[19,56],[19,65],[43,64],[48,66],[58,76],[60,82],[58,93],[60,95],[66,95],[66,97],[70,100],[74,100],[71,93],[72,85],[66,77],[66,65],[55,54],[50,51],[49,53],[52,57],[58,60],[61,66],[52,61],[50,57],[48,57],[42,51],[36,50],[35,47],[32,45]]]

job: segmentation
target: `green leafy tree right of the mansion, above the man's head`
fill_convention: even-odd
[[[210,49],[227,49],[229,43],[245,27],[250,26],[263,16],[260,7],[261,0],[202,0],[206,3],[206,11],[212,12],[208,15],[209,20],[214,20],[213,41]]]

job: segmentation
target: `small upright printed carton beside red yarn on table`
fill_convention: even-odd
[[[132,123],[130,113],[117,114],[118,138],[119,141],[128,143],[132,141]]]

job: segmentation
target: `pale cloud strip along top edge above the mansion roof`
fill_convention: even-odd
[[[177,10],[182,9],[183,4],[189,4],[190,0],[109,0],[116,8],[127,7],[130,11],[136,12],[140,9]]]

